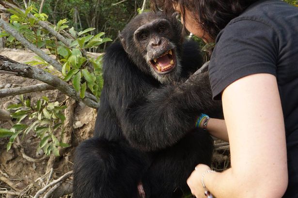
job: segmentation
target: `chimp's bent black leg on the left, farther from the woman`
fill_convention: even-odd
[[[76,150],[74,198],[138,198],[149,157],[125,142],[92,138]]]

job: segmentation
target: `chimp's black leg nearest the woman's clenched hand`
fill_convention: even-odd
[[[142,178],[145,192],[149,192],[150,198],[181,198],[190,192],[186,181],[196,165],[210,166],[212,150],[208,133],[195,129],[174,146],[156,152]]]

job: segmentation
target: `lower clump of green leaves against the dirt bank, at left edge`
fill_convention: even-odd
[[[47,97],[42,97],[35,105],[31,104],[29,99],[24,101],[23,95],[20,96],[21,103],[13,104],[7,107],[14,111],[11,117],[15,118],[17,123],[10,129],[0,128],[0,137],[10,137],[7,144],[7,151],[11,149],[16,137],[22,135],[24,138],[33,131],[40,139],[39,149],[49,155],[59,155],[58,147],[68,147],[69,145],[59,141],[63,138],[64,121],[63,110],[66,106],[59,102],[49,102]],[[28,117],[32,120],[30,125],[21,122]]]

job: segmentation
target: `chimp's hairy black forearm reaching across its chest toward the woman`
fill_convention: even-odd
[[[222,117],[219,101],[212,100],[207,72],[186,83],[152,90],[126,111],[125,135],[143,150],[171,146],[194,128],[197,117],[206,113]]]

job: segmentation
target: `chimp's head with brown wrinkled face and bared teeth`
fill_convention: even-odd
[[[126,28],[120,34],[125,51],[142,71],[161,83],[177,80],[181,73],[181,29],[176,22],[155,13],[139,15],[137,19],[130,22],[134,28],[127,25],[130,34]]]

